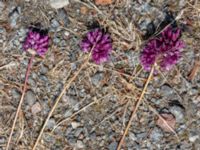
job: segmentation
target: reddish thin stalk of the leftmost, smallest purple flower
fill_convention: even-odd
[[[13,121],[13,124],[12,124],[11,132],[10,132],[10,135],[9,135],[9,138],[8,138],[8,143],[6,145],[6,150],[9,149],[10,142],[11,142],[11,139],[12,139],[12,135],[13,135],[13,132],[14,132],[14,129],[15,129],[15,125],[16,125],[16,122],[17,122],[17,118],[18,118],[19,112],[21,110],[21,106],[23,104],[24,96],[25,96],[26,89],[27,89],[28,77],[29,77],[30,72],[31,72],[31,66],[32,66],[34,57],[35,57],[35,55],[32,55],[30,60],[29,60],[29,64],[28,64],[27,71],[26,71],[26,76],[25,76],[25,82],[24,82],[24,86],[23,86],[23,91],[22,91],[22,95],[21,95],[21,99],[20,99],[18,107],[17,107],[17,112],[15,114],[15,118],[14,118],[14,121]]]

